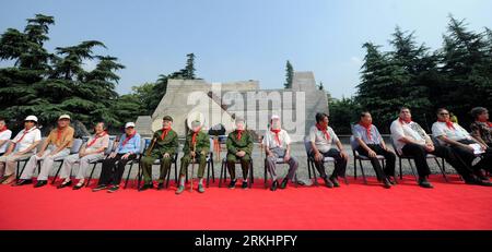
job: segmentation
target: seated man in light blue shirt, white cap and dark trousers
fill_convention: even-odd
[[[116,192],[119,190],[119,183],[125,171],[125,166],[131,159],[137,158],[140,153],[140,134],[134,130],[133,122],[125,124],[125,134],[119,137],[118,147],[115,152],[103,160],[103,168],[101,169],[99,181],[93,192],[107,189],[107,192]]]

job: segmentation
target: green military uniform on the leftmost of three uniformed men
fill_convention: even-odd
[[[161,139],[162,132],[163,130],[161,129],[154,133],[152,137],[152,142],[155,141],[154,147],[150,153],[145,152],[145,156],[141,160],[145,184],[152,184],[152,165],[157,158],[161,159],[159,183],[164,182],[164,178],[171,169],[176,148],[178,147],[178,135],[176,131],[169,130],[164,139]],[[152,146],[152,142],[149,147]],[[166,153],[169,154],[168,157],[164,157]]]

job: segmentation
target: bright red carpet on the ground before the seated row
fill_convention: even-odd
[[[370,185],[350,179],[337,189],[271,192],[256,180],[246,191],[211,184],[204,194],[181,195],[174,184],[114,194],[0,185],[0,229],[492,229],[492,188],[465,185],[456,176],[431,181],[432,190],[407,177],[390,190],[370,178]]]

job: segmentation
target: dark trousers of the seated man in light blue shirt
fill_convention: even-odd
[[[134,159],[137,155],[131,154],[127,159],[121,159],[125,154],[116,154],[114,158],[106,158],[103,160],[103,168],[101,170],[99,181],[97,184],[114,184],[118,185],[121,182],[122,172],[125,166],[131,159]]]

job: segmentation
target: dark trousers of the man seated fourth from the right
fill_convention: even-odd
[[[377,159],[377,157],[370,157],[368,153],[362,146],[359,146],[358,149],[356,149],[361,155],[366,156],[371,160],[371,164],[373,165],[374,171],[376,171],[377,180],[380,181],[380,180],[383,180],[386,177],[395,176],[395,163],[396,163],[396,155],[395,155],[395,153],[384,149],[378,144],[367,144],[367,147],[370,147],[377,155],[384,156],[385,159],[386,159],[386,167],[383,170],[383,167],[380,166],[380,163]]]

